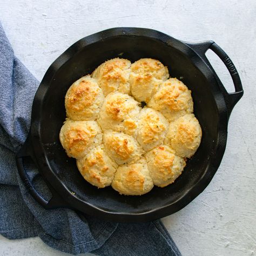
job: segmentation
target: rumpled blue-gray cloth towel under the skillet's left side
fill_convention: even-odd
[[[30,196],[19,178],[15,153],[28,135],[38,85],[14,56],[0,23],[0,234],[9,239],[38,236],[72,254],[181,255],[160,220],[112,223],[66,208],[45,210]],[[24,165],[33,184],[47,197],[35,166],[29,161]]]

